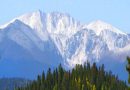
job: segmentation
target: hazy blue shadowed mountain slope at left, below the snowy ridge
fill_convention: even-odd
[[[41,41],[29,26],[19,20],[1,30],[0,47],[1,77],[32,79],[42,69],[62,63],[52,40]]]

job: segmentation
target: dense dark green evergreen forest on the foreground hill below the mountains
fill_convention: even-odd
[[[87,65],[86,65],[87,64]],[[47,73],[38,75],[37,80],[26,87],[16,90],[127,90],[125,82],[118,79],[112,72],[106,72],[104,65],[76,65],[71,71],[61,65],[55,70],[48,69]]]

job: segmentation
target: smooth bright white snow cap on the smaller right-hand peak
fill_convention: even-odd
[[[90,24],[87,25],[87,28],[94,30],[97,35],[100,35],[100,33],[104,30],[110,30],[117,34],[125,34],[125,33],[121,32],[119,29],[117,29],[117,28],[113,27],[112,25],[110,25],[104,21],[101,21],[101,20],[96,20],[94,22],[91,22]]]

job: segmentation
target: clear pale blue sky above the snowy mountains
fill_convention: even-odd
[[[39,9],[69,13],[83,23],[100,19],[130,33],[130,0],[1,0],[0,24]]]

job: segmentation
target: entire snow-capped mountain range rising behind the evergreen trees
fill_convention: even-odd
[[[110,62],[106,68],[120,74],[129,53],[130,36],[100,20],[82,24],[68,14],[36,11],[0,26],[0,76],[23,76],[25,70],[37,75],[45,67],[72,68],[88,60]]]

